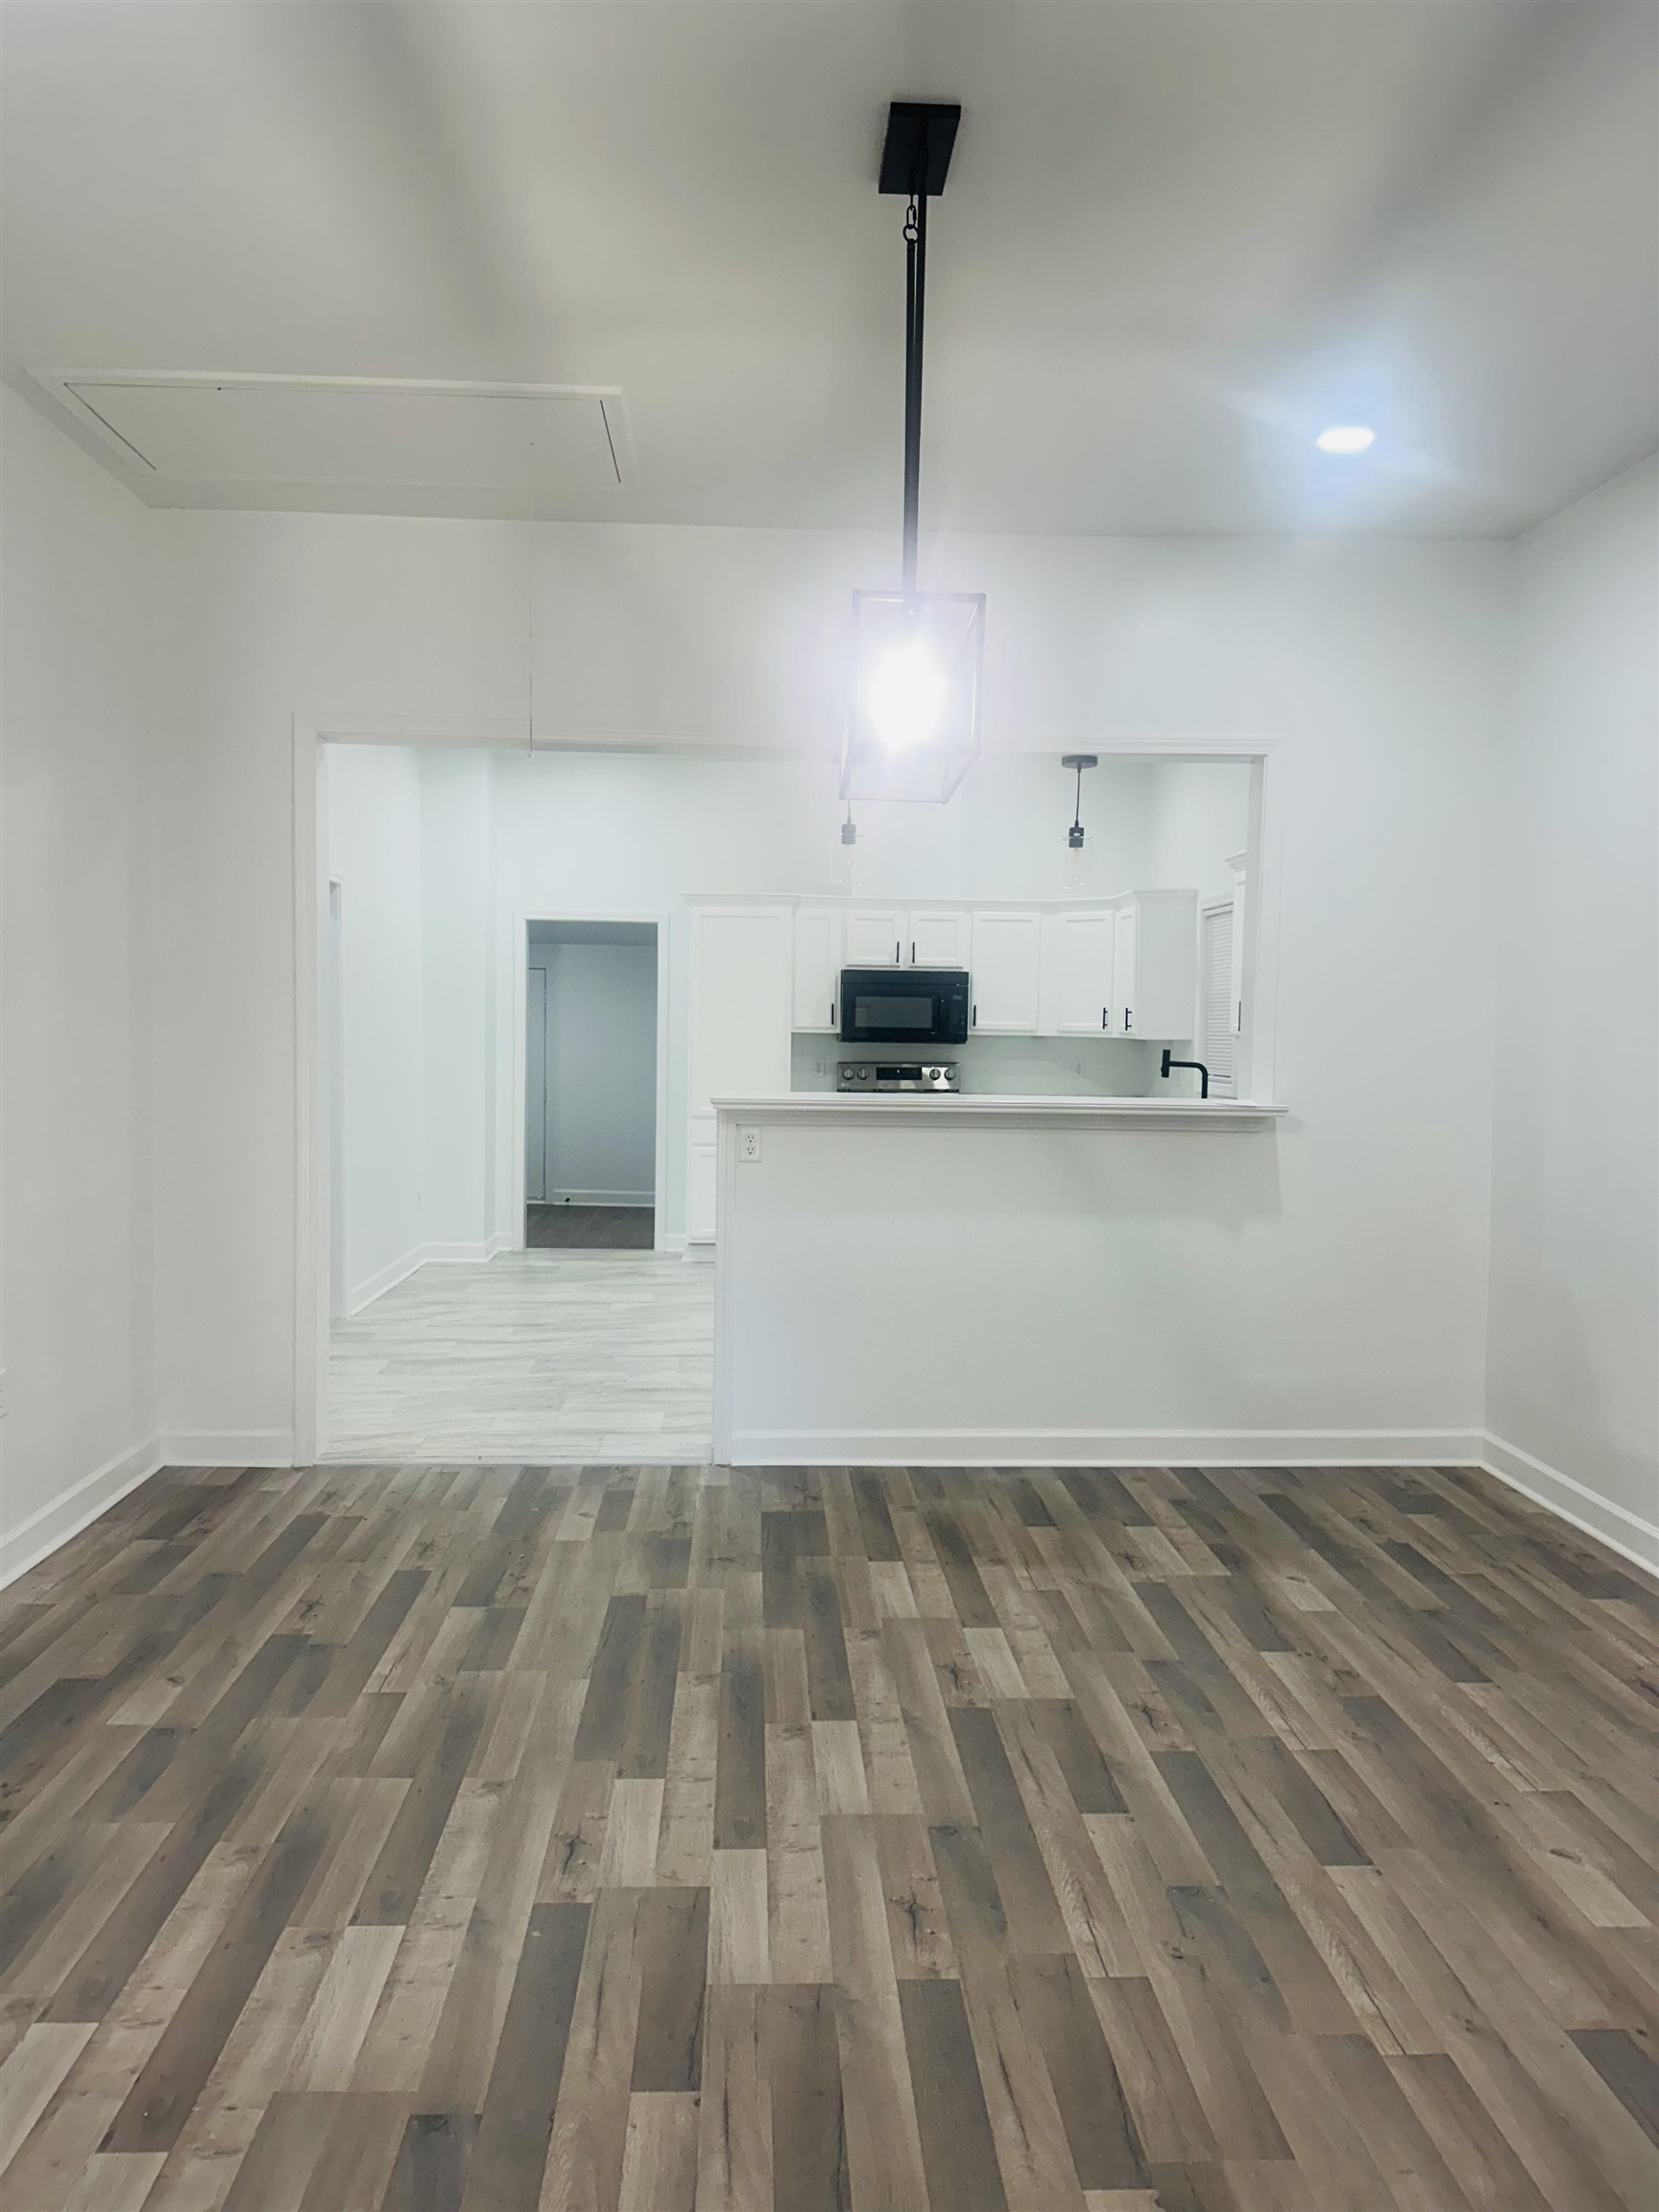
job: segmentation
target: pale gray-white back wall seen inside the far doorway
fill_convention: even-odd
[[[546,969],[549,1201],[650,1206],[657,947],[538,945]]]

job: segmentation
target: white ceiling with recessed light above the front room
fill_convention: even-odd
[[[1655,445],[1657,27],[1648,0],[9,0],[4,376],[155,504],[896,526],[874,173],[887,100],[945,97],[925,526],[1509,533]],[[128,387],[146,471],[42,369],[622,387],[633,458],[591,465],[584,418],[571,467],[502,482],[511,440],[469,462],[471,418],[425,471],[438,400],[358,394],[307,445],[316,409],[208,383],[184,414]],[[1365,460],[1312,449],[1354,418]]]

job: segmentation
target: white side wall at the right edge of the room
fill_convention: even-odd
[[[1520,542],[1495,891],[1489,1427],[1626,1544],[1659,1522],[1657,535],[1648,462]]]

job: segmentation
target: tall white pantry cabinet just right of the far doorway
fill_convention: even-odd
[[[794,909],[695,905],[686,1237],[714,1234],[717,1097],[790,1088]]]

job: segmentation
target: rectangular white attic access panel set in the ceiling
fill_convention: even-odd
[[[597,495],[628,480],[608,385],[35,372],[128,469],[164,482]]]

